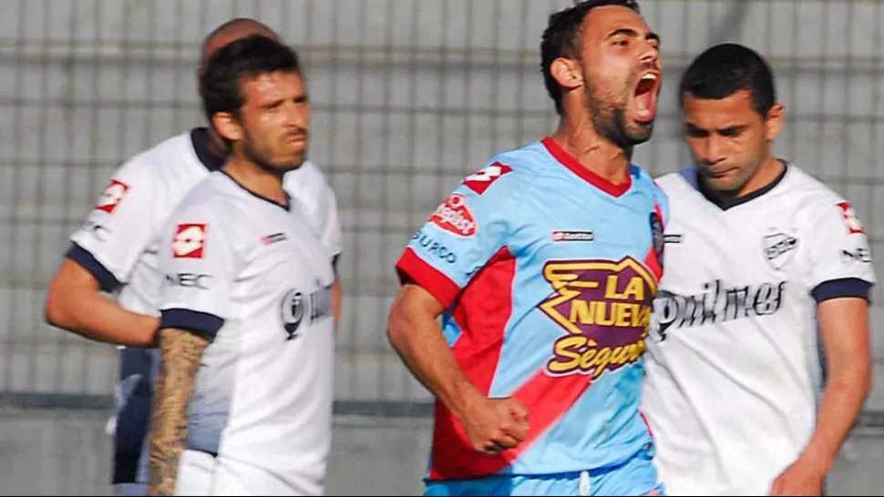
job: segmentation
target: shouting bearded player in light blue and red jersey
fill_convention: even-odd
[[[659,40],[591,0],[540,51],[559,129],[466,177],[396,263],[389,339],[437,398],[428,495],[662,490],[638,404],[667,206],[630,163]]]

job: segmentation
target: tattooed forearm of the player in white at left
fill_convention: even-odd
[[[160,330],[159,376],[150,419],[150,495],[175,493],[193,381],[208,345],[208,340],[190,331]]]

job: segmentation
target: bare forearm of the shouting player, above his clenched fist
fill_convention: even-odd
[[[464,375],[448,348],[437,318],[442,305],[414,283],[406,283],[390,309],[387,335],[417,380],[458,418],[472,401],[485,399]]]

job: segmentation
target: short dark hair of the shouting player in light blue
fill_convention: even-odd
[[[561,116],[561,86],[552,76],[552,61],[559,57],[577,58],[580,56],[580,34],[583,19],[596,7],[621,6],[641,13],[636,0],[584,0],[552,15],[540,37],[540,70],[547,93],[556,104],[556,112]]]

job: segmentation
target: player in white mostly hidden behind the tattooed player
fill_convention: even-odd
[[[203,58],[245,35],[278,38],[252,19],[238,18],[207,36]],[[185,193],[223,165],[226,149],[205,127],[171,137],[128,159],[114,172],[46,296],[47,320],[93,340],[124,344],[119,351],[112,482],[120,495],[147,492],[147,431],[159,324],[159,228]],[[306,161],[285,176],[284,187],[303,209],[328,255],[341,253],[334,191],[322,171]],[[115,294],[108,299],[102,293]],[[335,316],[340,287],[334,285]]]

